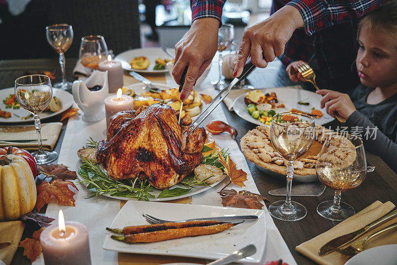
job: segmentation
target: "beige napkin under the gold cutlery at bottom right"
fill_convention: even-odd
[[[382,217],[386,213],[390,212],[394,207],[395,207],[395,205],[390,201],[382,203],[379,200],[377,200],[374,203],[372,203],[371,205],[369,205],[368,207],[361,210],[360,212],[351,216],[350,218],[347,218],[343,222],[335,225],[327,232],[324,232],[323,234],[318,235],[317,237],[300,244],[295,249],[299,253],[305,255],[312,261],[314,261],[318,264],[321,264],[321,265],[339,265],[339,264],[342,265],[342,264],[345,264],[351,257],[342,255],[336,251],[332,252],[331,254],[328,254],[326,256],[320,257],[319,256],[320,248],[324,244],[326,244],[327,242],[329,242],[330,240],[332,240],[338,236],[348,234],[348,233],[354,232],[360,228],[363,228],[367,224],[372,223],[373,221]],[[364,235],[359,237],[357,240],[361,240],[361,239],[367,237],[368,235],[375,233],[376,231],[379,231],[382,228],[384,228],[390,224],[393,224],[395,222],[397,222],[397,217],[386,222],[385,224],[371,230],[370,232],[365,233]],[[387,245],[387,244],[396,244],[396,243],[397,243],[397,232],[395,229],[393,229],[390,232],[386,232],[385,234],[376,236],[373,239],[371,239],[370,241],[368,241],[366,248],[372,248],[372,247],[376,247],[376,246]]]

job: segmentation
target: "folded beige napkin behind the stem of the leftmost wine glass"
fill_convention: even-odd
[[[43,149],[52,150],[61,133],[62,123],[41,124]],[[7,140],[35,140],[23,143],[1,143]],[[39,146],[34,125],[0,126],[0,147],[15,146],[27,150],[36,150]]]

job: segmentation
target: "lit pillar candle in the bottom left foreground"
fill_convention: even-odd
[[[45,228],[40,235],[46,265],[90,265],[88,229],[79,222],[67,221],[59,211],[58,225]]]

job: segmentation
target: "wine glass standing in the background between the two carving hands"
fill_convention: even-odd
[[[215,89],[221,90],[225,87],[225,80],[222,79],[222,51],[226,50],[233,41],[234,26],[232,24],[223,24],[218,29],[218,52],[219,52],[219,78],[211,82]]]

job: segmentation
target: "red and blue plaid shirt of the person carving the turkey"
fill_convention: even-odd
[[[192,21],[213,17],[219,21],[226,0],[191,0]],[[298,28],[279,57],[284,66],[302,60],[309,63],[329,84],[344,78],[356,85],[357,73],[351,72],[355,61],[358,19],[388,0],[273,0],[270,14],[285,4],[302,14],[304,28]],[[336,88],[337,89],[337,88]]]

